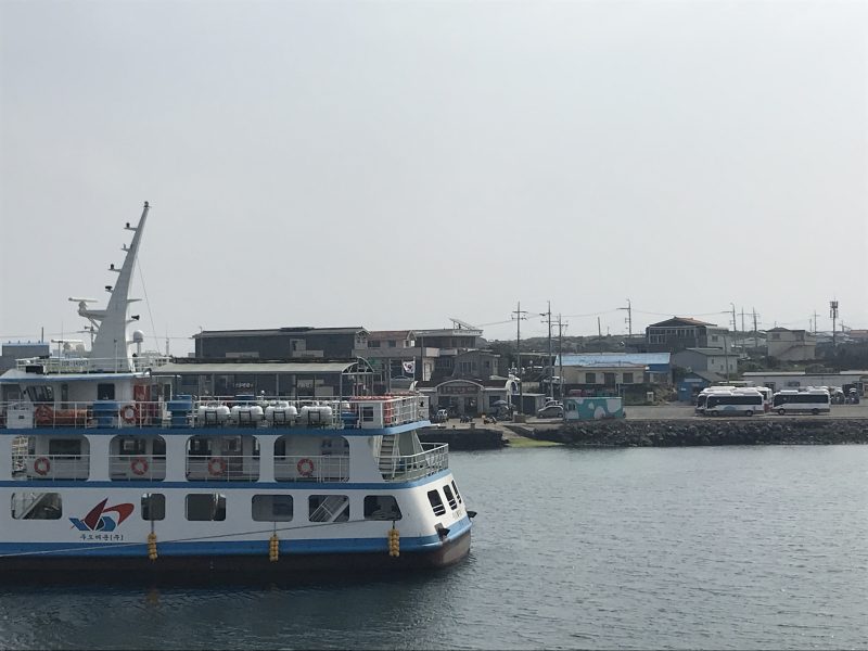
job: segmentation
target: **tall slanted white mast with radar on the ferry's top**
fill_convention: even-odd
[[[126,230],[131,230],[135,234],[130,245],[122,247],[122,251],[127,253],[124,266],[120,269],[115,269],[114,265],[108,267],[110,271],[117,273],[114,286],[106,285],[105,288],[111,293],[108,305],[105,309],[88,309],[86,302],[79,303],[78,314],[86,319],[90,319],[91,323],[95,324],[97,321],[100,323],[90,350],[91,368],[93,370],[126,372],[133,370],[127,326],[131,322],[128,317],[129,304],[138,301],[138,298],[129,298],[129,285],[132,280],[132,269],[136,267],[136,256],[139,253],[139,242],[142,238],[149,209],[148,202],[144,202],[144,209],[139,218],[138,226],[130,226],[129,222],[126,225]]]

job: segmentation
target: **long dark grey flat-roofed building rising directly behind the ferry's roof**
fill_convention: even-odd
[[[367,347],[368,331],[353,328],[203,330],[193,335],[196,359],[349,359]]]

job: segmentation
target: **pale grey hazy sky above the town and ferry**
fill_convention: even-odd
[[[79,330],[145,200],[174,353],[518,301],[868,328],[866,2],[0,0],[0,93],[2,341]]]

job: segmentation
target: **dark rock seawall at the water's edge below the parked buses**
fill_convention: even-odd
[[[534,436],[566,445],[607,447],[868,444],[868,419],[593,421],[536,430]]]

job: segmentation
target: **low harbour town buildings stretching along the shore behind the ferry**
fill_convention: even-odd
[[[334,361],[357,360],[354,372],[372,376],[374,393],[418,391],[430,397],[433,411],[452,417],[492,414],[507,406],[533,414],[566,396],[620,396],[625,405],[690,403],[703,388],[727,381],[773,391],[840,387],[845,395],[855,388],[859,396],[868,384],[868,330],[733,331],[673,317],[631,336],[563,336],[552,323],[548,337],[487,341],[481,328],[451,321],[451,328],[420,330],[204,330],[193,335],[195,352],[173,366],[179,388],[195,395],[277,395],[291,388],[295,396],[323,396],[343,381],[335,376],[348,372]],[[69,344],[51,346],[4,343],[0,373],[21,358],[80,354]],[[259,365],[244,367],[254,360],[283,363],[272,374]]]

